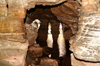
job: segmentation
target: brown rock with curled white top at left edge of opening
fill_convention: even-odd
[[[40,23],[41,23],[40,20],[35,19],[31,24],[28,23],[25,24],[29,46],[36,43],[36,38],[38,36],[38,29],[40,27]]]

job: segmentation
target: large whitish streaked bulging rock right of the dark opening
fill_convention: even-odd
[[[88,5],[93,6],[93,4]],[[89,9],[82,10],[78,23],[78,32],[70,40],[70,50],[73,51],[76,58],[85,61],[100,61],[99,23],[100,12],[97,11],[97,8],[90,11]]]

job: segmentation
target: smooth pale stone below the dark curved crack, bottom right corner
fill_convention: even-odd
[[[71,54],[71,65],[72,66],[100,66],[100,63],[93,63],[93,62],[85,62],[77,60],[73,53]]]

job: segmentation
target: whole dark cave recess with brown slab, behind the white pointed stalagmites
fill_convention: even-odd
[[[48,58],[48,54],[51,54],[51,59],[55,59],[59,66],[71,66],[69,40],[78,30],[78,17],[78,9],[76,6],[72,5],[72,3],[68,2],[64,2],[55,6],[37,5],[35,8],[27,10],[25,23],[31,24],[35,19],[39,19],[41,21],[40,28],[38,30],[38,36],[36,38],[36,43],[44,49],[41,58]],[[53,48],[48,48],[46,42],[49,23],[51,23],[51,34],[53,35]],[[59,57],[59,49],[57,44],[60,23],[63,25],[62,29],[66,47],[66,55],[64,57]],[[31,46],[29,46],[29,48],[30,47]],[[40,58],[37,58],[38,60],[34,61],[36,58],[34,58],[32,55],[33,52],[28,51],[26,58],[27,65],[38,65]]]

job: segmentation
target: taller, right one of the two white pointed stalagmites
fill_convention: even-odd
[[[66,47],[65,47],[65,39],[63,37],[63,30],[62,30],[62,24],[60,23],[59,26],[59,36],[57,38],[57,43],[59,47],[59,57],[63,57],[66,54]]]

